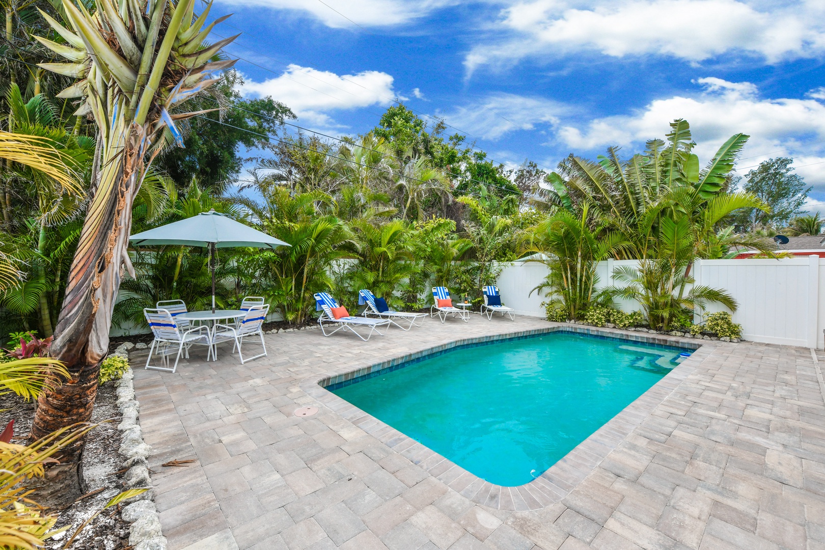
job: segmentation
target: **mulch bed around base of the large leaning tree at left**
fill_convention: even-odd
[[[97,390],[97,400],[92,412],[92,422],[98,423],[110,419],[114,422],[105,422],[87,435],[86,449],[83,452],[83,473],[86,477],[88,490],[98,491],[92,495],[75,501],[64,510],[54,511],[58,515],[57,529],[65,525],[71,527],[57,540],[47,541],[45,548],[57,550],[64,545],[80,525],[98,510],[102,510],[106,502],[123,490],[122,473],[118,473],[124,458],[118,454],[120,448],[120,432],[117,430],[120,411],[117,408],[115,382],[106,383]],[[14,419],[14,433],[16,437],[12,443],[26,444],[26,437],[31,430],[31,421],[35,415],[33,402],[24,402],[14,394],[0,396],[0,422],[5,426]],[[100,491],[101,490],[101,491]],[[117,550],[129,546],[129,524],[120,518],[118,506],[97,515],[88,524],[69,548],[83,550]]]

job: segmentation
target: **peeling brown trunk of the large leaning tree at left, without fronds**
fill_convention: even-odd
[[[32,440],[92,417],[100,364],[109,347],[111,313],[120,288],[121,265],[126,263],[132,271],[125,259],[132,203],[139,187],[139,168],[142,168],[140,156],[134,154],[134,134],[137,133],[139,130],[133,130],[132,136],[127,134],[125,142],[131,147],[107,148],[107,158],[102,159],[102,138],[98,136],[96,170],[92,173],[95,193],[68,273],[63,308],[51,346],[52,355],[64,363],[71,378],[53,390],[40,393],[31,425]],[[54,454],[59,463],[47,469],[45,483],[32,486],[41,505],[67,505],[86,491],[82,475],[84,444],[85,438],[82,438]]]

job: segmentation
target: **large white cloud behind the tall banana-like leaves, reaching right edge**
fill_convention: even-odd
[[[651,101],[631,115],[591,120],[583,127],[559,125],[556,138],[573,150],[608,145],[632,146],[663,138],[667,124],[677,118],[691,123],[695,153],[708,162],[731,135],[751,138],[738,162],[745,173],[770,157],[794,157],[794,167],[809,184],[825,191],[825,103],[817,99],[764,99],[750,82],[700,78],[694,96]],[[630,151],[627,152],[628,154]]]

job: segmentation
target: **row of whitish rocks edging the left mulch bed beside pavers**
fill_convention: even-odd
[[[145,345],[144,345],[145,346]],[[134,344],[124,342],[117,346],[111,355],[117,355],[129,360],[129,350]],[[111,356],[110,355],[110,356]],[[118,380],[117,407],[120,409],[120,449],[125,457],[123,463],[126,470],[124,490],[148,487],[149,490],[124,501],[128,503],[120,511],[120,517],[129,522],[129,544],[134,550],[166,550],[166,537],[163,536],[158,517],[158,510],[154,504],[154,493],[151,489],[152,480],[149,477],[147,458],[152,454],[152,448],[144,442],[143,432],[140,429],[140,404],[134,397],[134,373],[132,367]]]

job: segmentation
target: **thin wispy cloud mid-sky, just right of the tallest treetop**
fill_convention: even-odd
[[[559,115],[567,112],[568,107],[541,97],[495,93],[451,113],[439,112],[438,116],[471,135],[496,140],[516,130],[556,125]]]

